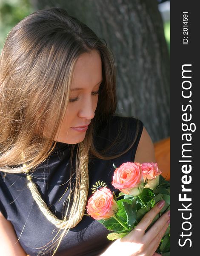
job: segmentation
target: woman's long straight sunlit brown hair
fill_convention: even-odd
[[[74,65],[81,54],[91,50],[100,54],[103,82],[95,116],[83,140],[83,154],[77,148],[76,178],[80,177],[78,166],[87,154],[109,160],[125,154],[134,145],[132,141],[126,151],[109,157],[106,152],[110,147],[101,152],[95,148],[95,135],[113,116],[117,106],[114,57],[106,42],[63,9],[39,10],[10,31],[0,56],[0,171],[34,172],[52,153],[56,144],[54,138],[69,102]],[[48,137],[43,136],[45,127],[49,128]],[[130,134],[118,139],[122,128],[126,127],[120,125],[118,137],[113,142],[115,145],[129,140]],[[75,146],[72,145],[71,161]],[[76,187],[74,192],[77,195],[78,189]],[[77,201],[75,197],[73,205]],[[72,215],[73,212],[69,212],[69,220]],[[58,233],[61,231],[61,235],[47,247],[51,250],[57,246],[54,253],[69,229]]]

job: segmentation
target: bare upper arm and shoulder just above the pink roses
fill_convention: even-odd
[[[143,127],[134,161],[139,163],[155,162],[154,144],[145,127]]]

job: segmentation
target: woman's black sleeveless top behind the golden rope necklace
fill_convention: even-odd
[[[134,117],[113,116],[111,122],[101,128],[95,138],[95,146],[102,150],[111,145],[117,137],[119,121],[124,123],[122,135],[128,132],[126,143],[117,145],[109,150],[109,155],[123,152],[136,137],[137,127],[139,132],[134,146],[121,157],[113,160],[101,160],[89,157],[89,195],[92,195],[92,184],[96,181],[106,182],[109,189],[117,194],[117,190],[111,185],[114,167],[119,167],[125,162],[134,162],[134,157],[140,136],[143,130],[143,122]],[[38,191],[47,206],[57,218],[62,219],[63,203],[68,196],[70,173],[70,144],[57,142],[54,152],[48,159],[41,163],[33,173],[33,181],[37,184]],[[76,155],[76,154],[74,154]],[[63,196],[63,197],[62,197]],[[61,198],[62,197],[62,198]],[[61,200],[59,201],[59,199]],[[43,215],[32,198],[27,187],[26,176],[20,174],[6,174],[0,172],[0,212],[11,221],[23,249],[30,256],[42,255],[39,247],[48,244],[57,234],[58,229]],[[85,212],[86,213],[86,212]],[[58,247],[57,256],[97,256],[103,253],[111,244],[106,236],[111,231],[94,220],[90,216],[83,219],[76,227],[71,228]],[[46,253],[43,255],[52,255]]]

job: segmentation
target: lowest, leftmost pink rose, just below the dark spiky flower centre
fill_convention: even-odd
[[[86,206],[87,212],[95,220],[111,218],[117,213],[117,202],[114,200],[110,189],[106,187],[97,190],[89,199]]]

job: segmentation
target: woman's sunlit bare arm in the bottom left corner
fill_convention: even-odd
[[[26,256],[10,221],[0,212],[0,255]],[[15,244],[16,243],[16,244]],[[14,245],[15,244],[15,245]]]

